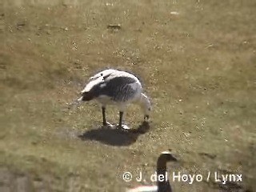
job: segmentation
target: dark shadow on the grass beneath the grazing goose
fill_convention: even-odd
[[[142,122],[137,129],[122,130],[101,127],[99,129],[88,130],[78,135],[82,141],[98,141],[110,146],[130,146],[137,141],[139,135],[146,134],[150,130],[148,122]]]

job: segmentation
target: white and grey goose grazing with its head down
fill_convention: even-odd
[[[90,77],[89,82],[81,91],[82,97],[78,102],[89,102],[97,100],[102,106],[103,126],[113,127],[106,122],[106,106],[114,105],[119,110],[118,128],[130,129],[122,124],[123,113],[126,106],[131,102],[136,102],[144,114],[144,122],[150,118],[151,104],[146,94],[142,93],[142,83],[134,74],[122,70],[102,70]]]

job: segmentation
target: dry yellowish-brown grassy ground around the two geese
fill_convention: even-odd
[[[1,191],[124,191],[140,185],[125,171],[149,177],[168,149],[170,172],[203,175],[174,191],[256,189],[255,1],[32,2],[0,1]],[[147,133],[101,130],[96,102],[66,104],[107,67],[142,79]],[[138,106],[125,118],[136,129]],[[242,182],[207,182],[209,170]]]

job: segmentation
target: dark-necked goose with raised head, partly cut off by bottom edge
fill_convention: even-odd
[[[157,162],[157,178],[159,174],[166,175],[166,163],[177,162],[177,158],[174,158],[169,151],[163,151],[158,157]],[[168,174],[167,174],[168,175]],[[126,192],[171,192],[171,186],[168,178],[165,178],[163,182],[158,181],[157,186],[138,186],[136,188],[126,190]]]

